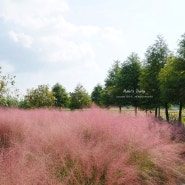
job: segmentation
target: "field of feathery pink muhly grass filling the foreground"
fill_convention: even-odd
[[[185,143],[139,112],[0,110],[1,185],[175,185]]]

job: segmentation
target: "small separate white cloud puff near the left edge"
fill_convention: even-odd
[[[31,36],[23,32],[17,33],[14,31],[9,31],[8,35],[14,42],[21,43],[25,48],[30,48],[32,45],[33,39]]]

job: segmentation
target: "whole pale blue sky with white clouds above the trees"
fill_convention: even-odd
[[[26,89],[104,83],[114,60],[141,59],[157,35],[174,51],[184,0],[0,0],[0,66]]]

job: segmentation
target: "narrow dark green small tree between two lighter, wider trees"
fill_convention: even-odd
[[[62,87],[59,83],[56,83],[52,87],[52,92],[54,94],[54,97],[56,99],[55,106],[56,107],[68,107],[69,106],[69,96],[66,92],[65,88]]]

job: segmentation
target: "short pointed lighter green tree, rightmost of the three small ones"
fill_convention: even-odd
[[[85,88],[78,84],[74,92],[70,93],[70,109],[83,109],[91,105],[91,98]]]

